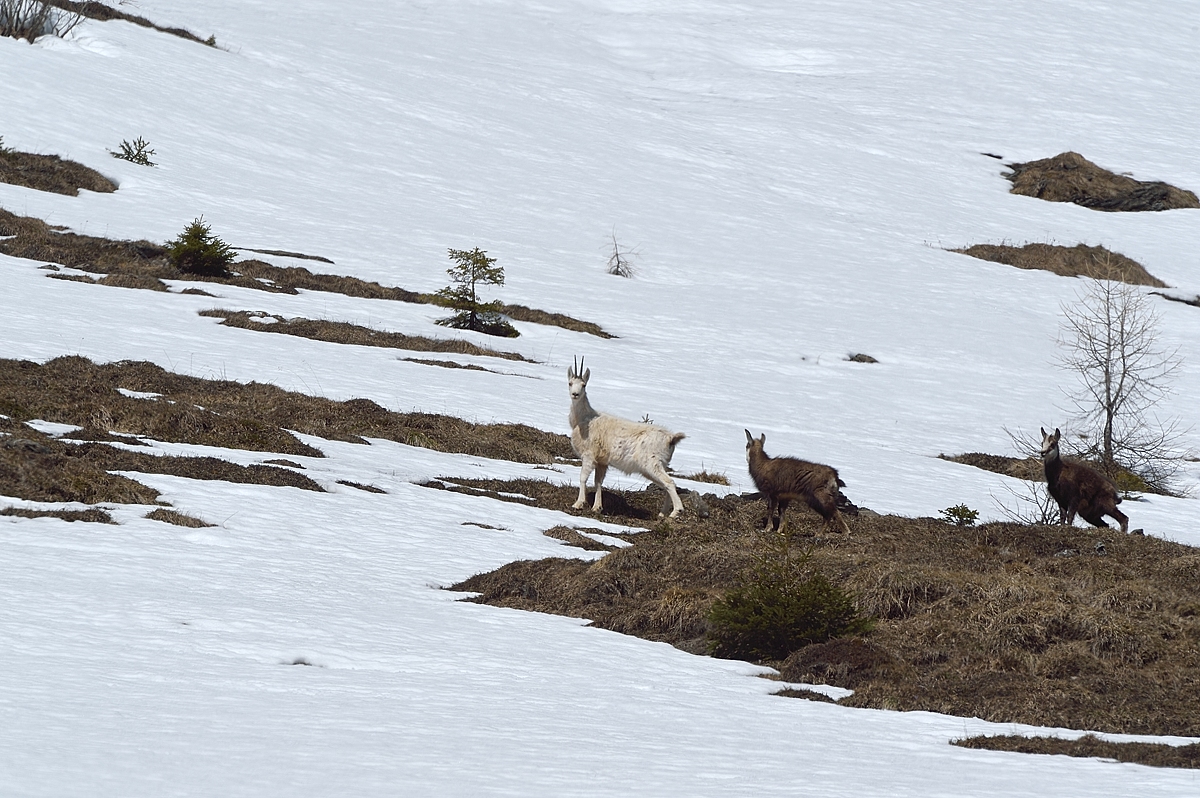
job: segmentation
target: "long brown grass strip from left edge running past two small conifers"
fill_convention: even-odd
[[[94,235],[67,233],[66,228],[53,227],[29,216],[17,216],[2,208],[0,208],[0,236],[7,236],[0,238],[0,253],[13,258],[58,263],[92,274],[108,275],[100,282],[124,288],[162,290],[166,286],[162,288],[158,286],[162,284],[163,280],[190,280],[276,294],[319,290],[361,299],[384,299],[421,305],[439,304],[434,294],[419,294],[404,288],[380,286],[377,282],[344,275],[313,274],[304,266],[276,266],[256,259],[234,263],[230,274],[224,277],[192,275],[173,266],[167,259],[167,248],[162,245],[150,241],[113,241]],[[286,254],[301,257],[296,253]],[[319,259],[325,260],[324,258]],[[78,280],[78,277],[65,275],[59,275],[59,277]],[[114,282],[109,282],[109,278]],[[203,289],[185,289],[185,292],[206,293]],[[581,322],[562,313],[548,313],[523,305],[503,305],[500,312],[518,322],[548,324],[602,338],[616,337],[592,322]]]

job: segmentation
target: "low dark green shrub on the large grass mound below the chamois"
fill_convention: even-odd
[[[874,628],[854,598],[810,568],[811,553],[787,554],[787,542],[772,546],[742,582],[709,611],[714,656],[781,660],[810,643],[862,635]]]

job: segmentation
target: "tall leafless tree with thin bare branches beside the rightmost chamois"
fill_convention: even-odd
[[[1086,439],[1081,454],[1109,476],[1127,469],[1156,490],[1169,484],[1183,452],[1186,430],[1154,408],[1170,394],[1182,360],[1163,346],[1160,317],[1136,286],[1116,278],[1115,266],[1097,260],[1079,301],[1062,306],[1060,366],[1076,376],[1067,391],[1074,427]]]

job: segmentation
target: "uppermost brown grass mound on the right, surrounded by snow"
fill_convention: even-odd
[[[1007,164],[1012,193],[1105,211],[1200,208],[1195,193],[1160,181],[1144,182],[1103,169],[1078,152]]]

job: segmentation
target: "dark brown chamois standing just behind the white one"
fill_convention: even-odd
[[[772,529],[781,532],[787,505],[800,499],[824,518],[826,529],[835,526],[850,534],[846,520],[838,511],[838,488],[845,482],[838,479],[835,468],[796,457],[768,457],[762,450],[767,436],[762,434],[755,439],[749,430],[745,433],[750,478],[754,479],[755,487],[767,498],[767,532]],[[775,508],[779,508],[778,526]]]

